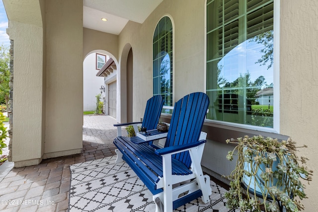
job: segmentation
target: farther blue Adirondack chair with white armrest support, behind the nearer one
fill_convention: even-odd
[[[121,127],[133,125],[135,132],[138,132],[138,124],[142,124],[142,127],[146,127],[147,130],[156,129],[160,113],[162,110],[163,101],[160,95],[154,96],[147,101],[143,121],[130,122],[130,123],[118,123],[114,124],[117,127],[117,136],[121,136]]]

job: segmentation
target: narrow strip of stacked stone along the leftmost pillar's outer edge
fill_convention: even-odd
[[[10,87],[10,92],[9,92],[9,102],[7,108],[8,111],[8,116],[9,116],[9,154],[8,154],[8,161],[12,161],[12,128],[13,128],[13,48],[14,48],[14,41],[10,40],[10,81],[9,81],[9,87]]]

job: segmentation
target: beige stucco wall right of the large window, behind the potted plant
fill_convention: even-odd
[[[310,159],[305,211],[318,211],[318,1],[281,0],[280,129]]]

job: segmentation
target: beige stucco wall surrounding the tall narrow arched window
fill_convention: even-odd
[[[197,0],[193,3],[191,0],[184,0],[182,7],[180,3],[180,1],[164,0],[144,23],[129,21],[119,34],[119,55],[123,54],[124,46],[129,43],[136,61],[133,63],[134,120],[143,117],[146,101],[153,94],[153,35],[157,23],[165,15],[170,17],[173,24],[174,101],[188,93],[205,90],[205,1]]]

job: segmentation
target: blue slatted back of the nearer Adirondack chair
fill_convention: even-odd
[[[208,96],[200,92],[185,96],[175,103],[164,147],[197,142],[209,103]],[[179,160],[188,168],[191,166],[189,152],[172,155],[172,158]]]

